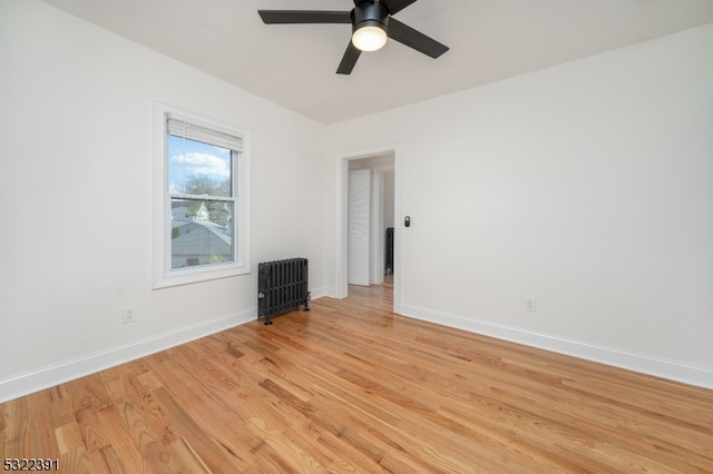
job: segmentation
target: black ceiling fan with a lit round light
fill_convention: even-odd
[[[350,23],[352,38],[336,69],[339,75],[349,75],[362,51],[381,49],[388,38],[431,58],[438,58],[448,51],[447,46],[392,18],[413,2],[416,0],[354,0],[354,8],[351,11],[257,10],[257,12],[266,24]]]

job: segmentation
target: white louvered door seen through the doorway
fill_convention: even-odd
[[[371,170],[349,171],[349,274],[350,285],[369,286]]]

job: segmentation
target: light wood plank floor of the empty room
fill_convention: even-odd
[[[391,288],[0,404],[65,473],[713,472],[713,392],[391,314]]]

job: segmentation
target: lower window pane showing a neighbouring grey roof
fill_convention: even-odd
[[[235,261],[233,203],[170,199],[170,268]]]

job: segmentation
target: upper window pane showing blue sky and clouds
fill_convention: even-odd
[[[168,136],[168,191],[232,196],[231,150],[174,135]]]

